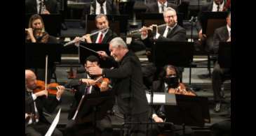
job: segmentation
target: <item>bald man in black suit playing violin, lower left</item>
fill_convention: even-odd
[[[46,90],[34,93],[33,90],[36,87],[36,75],[32,70],[25,70],[25,135],[46,134],[50,128],[50,123],[43,116],[43,109],[46,109],[47,112],[53,112],[59,105],[65,89],[64,86],[57,86],[56,96],[51,97]],[[62,136],[62,133],[55,128],[52,135]]]

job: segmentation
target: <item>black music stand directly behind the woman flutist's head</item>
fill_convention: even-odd
[[[29,18],[33,14],[25,15],[25,28],[28,27]],[[60,14],[50,14],[50,15],[40,15],[43,19],[44,27],[46,32],[50,34],[50,36],[58,37],[60,36],[62,17]]]

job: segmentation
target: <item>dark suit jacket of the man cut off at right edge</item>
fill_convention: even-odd
[[[226,42],[229,39],[229,31],[227,26],[220,27],[215,30],[213,34],[213,50],[215,53],[219,50],[219,43]]]

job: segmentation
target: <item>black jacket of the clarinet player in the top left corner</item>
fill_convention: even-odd
[[[58,14],[59,6],[56,0],[47,0],[45,1],[46,10],[50,12],[50,14]],[[25,1],[25,13],[26,14],[37,14],[37,6],[36,0],[26,0]]]

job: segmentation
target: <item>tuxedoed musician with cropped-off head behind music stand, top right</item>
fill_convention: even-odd
[[[213,52],[213,36],[206,36],[203,34],[201,27],[201,16],[203,12],[222,12],[225,5],[224,0],[213,0],[212,3],[207,3],[206,5],[201,6],[201,10],[198,13],[198,22],[196,24],[196,29],[198,30],[198,38],[206,44],[206,52]]]

